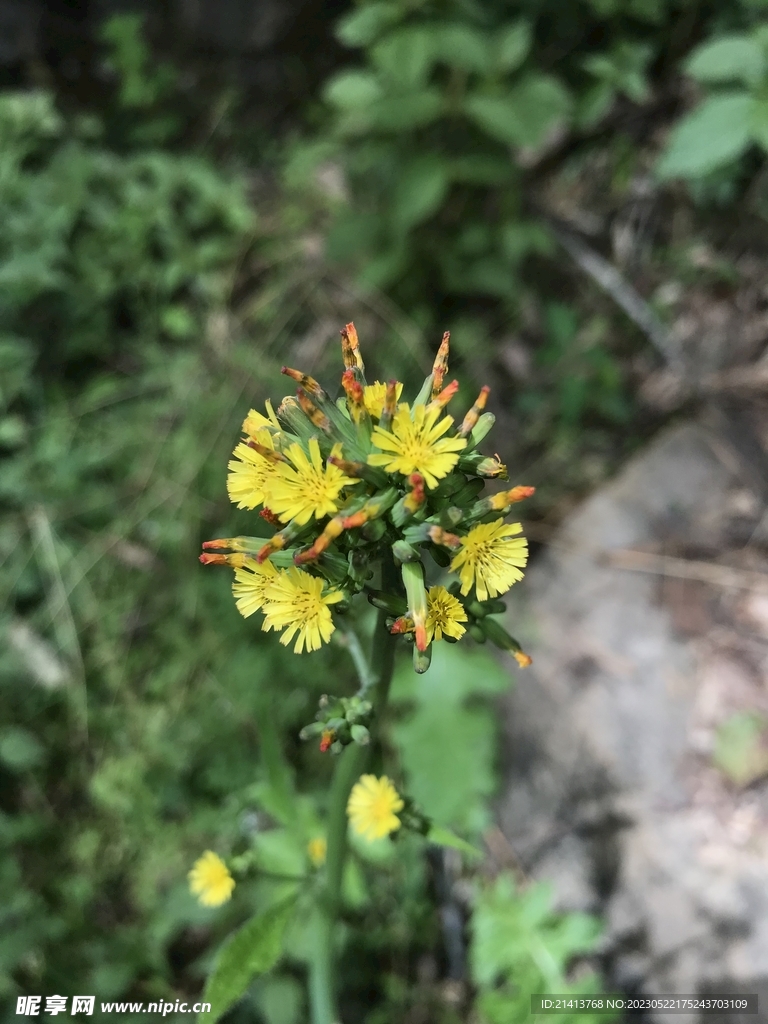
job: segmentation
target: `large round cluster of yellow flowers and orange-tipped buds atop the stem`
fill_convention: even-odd
[[[265,415],[251,410],[243,423],[227,492],[238,508],[258,509],[273,535],[209,541],[201,561],[230,565],[240,612],[261,612],[262,629],[280,632],[281,643],[294,641],[297,653],[327,643],[335,629],[332,607],[343,610],[364,590],[380,607],[392,605],[392,632],[413,640],[419,656],[467,631],[479,639],[488,612],[500,610],[483,602],[493,604],[522,579],[527,542],[520,524],[504,517],[532,488],[480,498],[483,481],[506,479],[506,468],[477,452],[494,422],[484,411],[487,388],[461,422],[446,412],[458,390],[456,381],[443,386],[449,337],[409,402],[400,400],[398,381],[366,381],[348,324],[343,400],[284,368],[299,385],[296,396],[276,412],[267,401]],[[453,584],[427,590],[426,554],[455,574]],[[369,583],[376,565],[392,557],[402,566],[404,599]],[[517,656],[519,646],[505,635],[500,626],[487,633]],[[415,655],[415,665],[423,671],[428,659],[417,664]]]

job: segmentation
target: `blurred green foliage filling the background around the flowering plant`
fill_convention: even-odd
[[[20,992],[195,994],[230,928],[310,869],[330,764],[297,734],[321,693],[354,685],[352,663],[341,637],[286,652],[197,561],[209,537],[258,531],[225,467],[247,410],[286,390],[281,365],[331,383],[354,318],[374,376],[416,381],[451,329],[465,404],[494,386],[500,451],[554,522],[662,422],[637,399],[657,345],[574,266],[563,225],[600,247],[648,189],[682,211],[682,227],[606,242],[662,327],[673,271],[735,272],[691,257],[707,231],[764,231],[762,0],[366,0],[306,17],[276,49],[303,68],[278,114],[238,68],[171,47],[157,10],[94,18],[79,79],[52,51],[3,79],[9,1017]],[[480,842],[509,669],[441,653],[397,676],[389,753],[428,813]],[[209,847],[253,848],[262,868],[215,912],[185,881]],[[512,1024],[530,991],[597,984],[596,924],[553,914],[511,851],[479,872],[408,839],[395,853],[357,847],[346,880],[349,1020]],[[232,1020],[305,1019],[310,936],[294,930]]]

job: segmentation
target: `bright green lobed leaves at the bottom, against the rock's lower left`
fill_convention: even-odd
[[[590,953],[599,938],[594,918],[552,911],[543,883],[518,889],[501,874],[481,889],[472,913],[470,962],[478,987],[477,1010],[483,1024],[522,1024],[530,1017],[530,996],[537,992],[589,994],[599,992],[594,974],[567,980],[574,957]],[[563,1016],[564,1021],[610,1021],[610,1015]]]

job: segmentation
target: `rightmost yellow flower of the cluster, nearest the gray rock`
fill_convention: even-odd
[[[462,582],[462,594],[468,594],[474,585],[477,598],[504,594],[513,583],[522,580],[521,568],[528,560],[528,542],[519,522],[506,525],[503,519],[483,522],[463,537],[462,546],[451,562]]]

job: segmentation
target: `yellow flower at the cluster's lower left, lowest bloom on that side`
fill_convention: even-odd
[[[303,569],[292,566],[280,572],[264,590],[264,625],[262,629],[285,630],[280,638],[288,645],[296,637],[294,653],[317,650],[328,643],[336,627],[331,617],[330,604],[341,601],[343,594],[338,590],[323,593],[324,582],[311,577]]]

